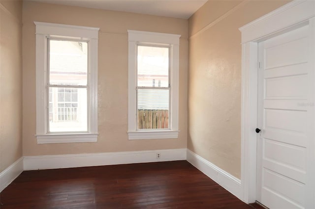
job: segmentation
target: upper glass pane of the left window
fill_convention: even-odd
[[[88,43],[49,40],[49,83],[87,85]]]

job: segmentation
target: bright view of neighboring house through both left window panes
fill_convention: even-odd
[[[48,39],[48,132],[88,131],[88,42]]]

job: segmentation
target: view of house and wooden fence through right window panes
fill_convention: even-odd
[[[169,47],[137,46],[137,129],[168,129]]]

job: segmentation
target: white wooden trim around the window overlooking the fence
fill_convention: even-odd
[[[128,139],[178,138],[178,101],[179,101],[179,38],[181,35],[128,30]],[[136,60],[137,44],[158,44],[171,49],[170,66],[170,129],[137,131],[136,124]]]

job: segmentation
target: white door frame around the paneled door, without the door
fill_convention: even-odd
[[[241,186],[246,203],[256,200],[257,43],[301,24],[314,27],[314,17],[314,0],[293,0],[239,28],[242,33]]]

